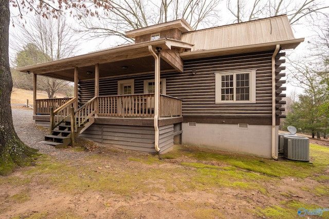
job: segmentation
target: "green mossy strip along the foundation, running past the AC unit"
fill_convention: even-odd
[[[183,146],[174,152],[175,156],[178,156],[178,152],[194,157],[199,161],[217,161],[243,170],[276,177],[311,177],[316,172],[322,172],[329,165],[329,160],[325,158],[329,156],[329,149],[312,144],[310,145],[310,156],[314,160],[313,164],[289,160],[274,161],[247,155],[218,153],[216,151],[200,151],[193,147],[191,151],[188,151],[187,147]]]

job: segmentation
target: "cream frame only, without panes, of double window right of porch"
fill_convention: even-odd
[[[243,103],[256,103],[256,71],[257,69],[248,70],[237,70],[237,71],[225,71],[215,73],[215,103],[216,104],[243,104]],[[236,74],[249,73],[249,100],[248,101],[237,101],[235,99],[236,92]],[[233,100],[222,101],[222,75],[233,74]]]

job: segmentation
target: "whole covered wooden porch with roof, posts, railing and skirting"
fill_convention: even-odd
[[[174,141],[180,143],[182,100],[163,92],[161,72],[182,72],[179,53],[191,48],[164,38],[18,70],[33,73],[35,123],[58,133],[68,126],[63,121],[71,120],[71,145],[79,135],[120,148],[165,152]],[[74,97],[36,98],[38,75],[71,81]]]

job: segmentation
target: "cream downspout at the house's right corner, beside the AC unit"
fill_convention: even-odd
[[[280,50],[280,45],[276,46],[276,50],[272,55],[272,158],[278,160],[276,156],[276,55]]]

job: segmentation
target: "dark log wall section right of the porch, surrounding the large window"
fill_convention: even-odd
[[[185,61],[184,73],[166,75],[167,95],[183,99],[182,116],[185,120],[189,117],[270,118],[272,54],[269,51]],[[215,104],[214,73],[245,69],[257,69],[256,103]],[[196,71],[195,75],[192,70]]]

